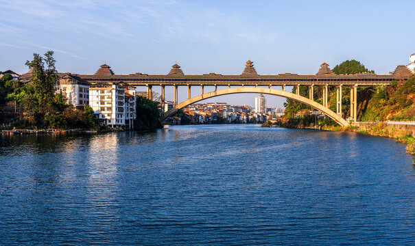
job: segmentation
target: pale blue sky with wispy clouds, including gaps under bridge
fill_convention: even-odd
[[[0,70],[55,51],[60,72],[314,74],[357,59],[378,74],[415,53],[415,1],[0,0]],[[156,89],[156,91],[158,88]],[[192,94],[199,92],[195,88]],[[172,94],[167,90],[167,99]],[[180,98],[187,96],[182,90]],[[216,98],[253,105],[254,94]],[[268,105],[283,98],[268,96]]]

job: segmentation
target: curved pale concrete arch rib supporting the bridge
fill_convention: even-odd
[[[236,94],[236,93],[262,93],[262,94],[269,94],[269,95],[274,95],[274,96],[283,96],[285,98],[290,98],[298,102],[302,102],[305,105],[309,105],[310,107],[313,107],[314,109],[321,111],[322,113],[324,113],[324,115],[327,115],[329,118],[337,122],[337,124],[340,124],[340,126],[348,126],[348,122],[346,122],[346,120],[340,117],[340,115],[337,115],[337,113],[334,113],[327,107],[323,107],[323,105],[320,105],[320,103],[318,102],[310,100],[309,98],[305,98],[304,96],[293,94],[291,92],[284,92],[282,90],[275,90],[275,89],[268,89],[268,88],[261,88],[261,87],[228,88],[224,90],[216,90],[213,92],[207,92],[202,95],[195,96],[193,98],[185,100],[184,102],[181,102],[180,104],[178,104],[176,107],[169,109],[169,111],[165,112],[161,116],[160,120],[161,122],[163,122],[169,116],[174,115],[174,113],[176,113],[179,109],[187,107],[200,100],[212,98],[215,96],[222,96],[226,94]]]

